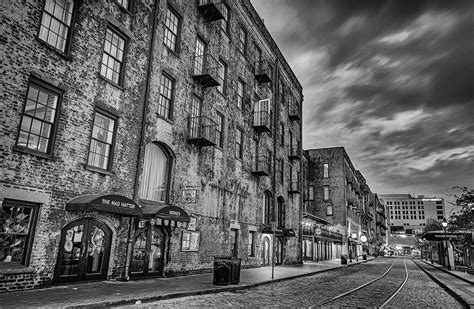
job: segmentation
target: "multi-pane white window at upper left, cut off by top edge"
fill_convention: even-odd
[[[65,52],[71,36],[74,1],[46,0],[38,37],[57,50]]]

